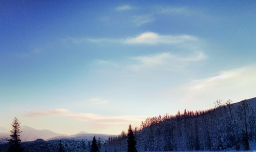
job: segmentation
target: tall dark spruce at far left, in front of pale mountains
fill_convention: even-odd
[[[12,135],[10,135],[11,138],[9,139],[9,152],[21,152],[23,151],[23,147],[21,147],[20,145],[21,143],[20,133],[22,131],[20,128],[19,119],[14,117],[11,126],[12,126],[12,130],[11,130]]]

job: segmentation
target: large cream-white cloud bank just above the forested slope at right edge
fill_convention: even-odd
[[[172,94],[170,98],[183,104],[191,104],[196,109],[199,105],[209,105],[205,101],[214,102],[216,99],[222,99],[222,101],[231,99],[234,102],[238,102],[243,99],[253,98],[255,97],[255,84],[256,65],[253,65],[221,71],[214,77],[193,80],[166,93]],[[207,107],[202,107],[201,109],[205,108]]]

